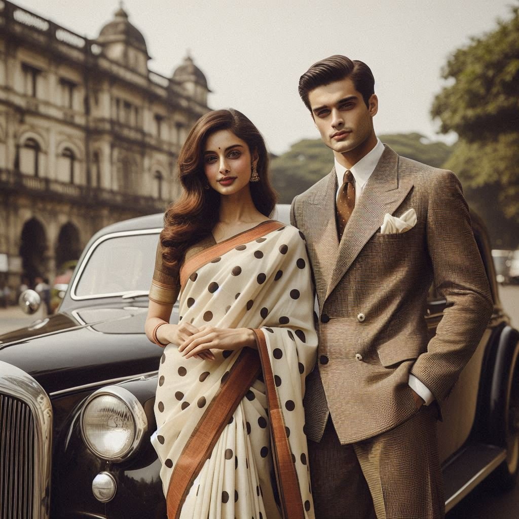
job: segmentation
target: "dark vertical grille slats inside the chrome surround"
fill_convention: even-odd
[[[32,519],[34,418],[28,405],[0,394],[0,517]]]

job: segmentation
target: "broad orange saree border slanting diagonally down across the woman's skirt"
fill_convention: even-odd
[[[260,359],[256,351],[243,348],[231,366],[206,412],[198,422],[176,462],[166,497],[168,519],[178,519],[182,506],[196,476],[211,452],[230,417],[233,416],[245,393],[260,374]]]

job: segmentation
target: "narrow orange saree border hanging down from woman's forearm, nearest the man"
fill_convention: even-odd
[[[301,490],[297,480],[297,473],[292,460],[292,450],[286,436],[283,412],[279,404],[274,373],[268,359],[267,342],[263,330],[253,330],[256,336],[257,349],[260,352],[263,379],[268,402],[270,432],[274,466],[278,478],[281,511],[283,519],[304,519]]]

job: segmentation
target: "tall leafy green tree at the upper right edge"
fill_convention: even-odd
[[[459,136],[445,167],[459,175],[485,220],[500,221],[506,234],[519,229],[519,6],[511,12],[452,54],[442,71],[450,85],[431,108],[441,131]]]

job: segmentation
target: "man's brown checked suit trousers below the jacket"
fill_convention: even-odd
[[[332,419],[308,441],[316,519],[441,519],[445,516],[435,409],[341,445]]]

